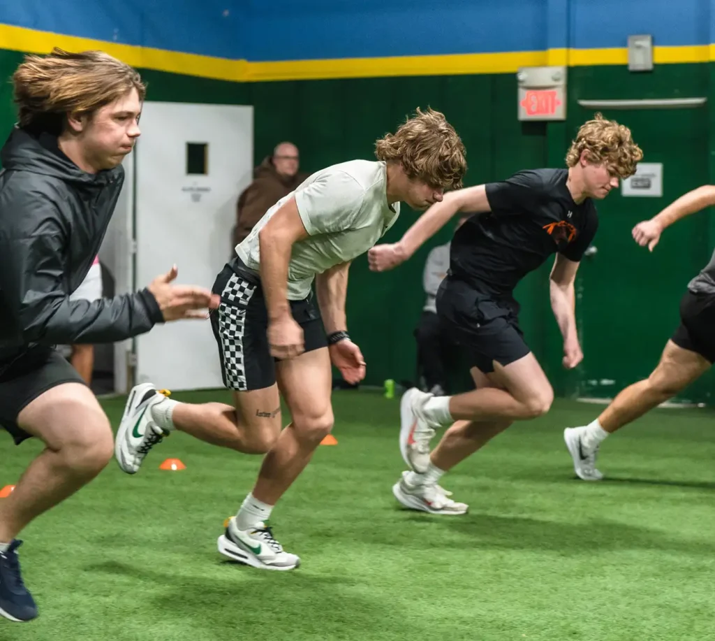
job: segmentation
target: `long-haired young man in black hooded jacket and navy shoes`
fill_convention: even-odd
[[[0,501],[0,615],[37,608],[21,578],[19,532],[99,474],[112,429],[92,391],[54,346],[122,341],[156,323],[206,317],[209,290],[172,284],[72,300],[92,266],[139,137],[144,85],[103,52],[28,56],[14,76],[19,123],[0,151],[0,425],[46,449]],[[203,312],[199,310],[204,310]]]

